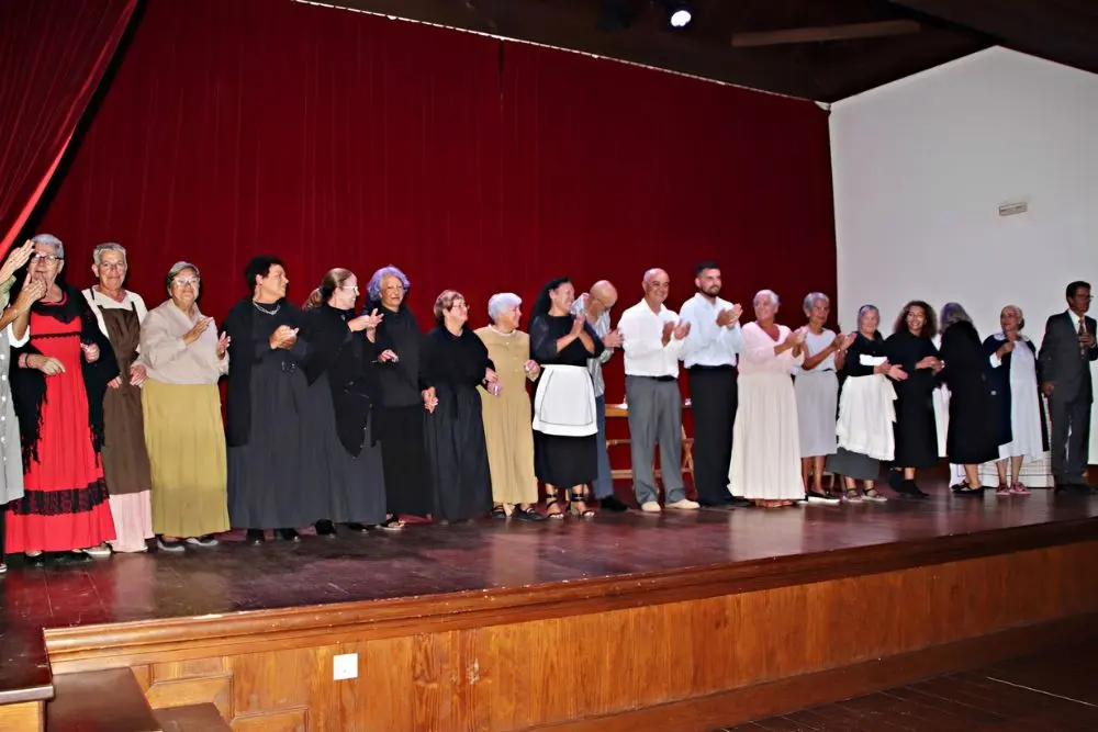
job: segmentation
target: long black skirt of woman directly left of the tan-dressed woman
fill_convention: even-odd
[[[492,508],[492,476],[481,399],[474,386],[436,386],[438,406],[425,419],[435,486],[435,518],[459,521]]]

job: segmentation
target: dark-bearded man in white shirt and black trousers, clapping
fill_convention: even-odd
[[[694,485],[703,506],[735,507],[749,502],[728,492],[736,423],[736,358],[743,345],[740,315],[743,308],[720,295],[720,268],[705,261],[697,266],[697,292],[683,303],[679,319],[690,324],[682,360],[690,374],[694,410]]]

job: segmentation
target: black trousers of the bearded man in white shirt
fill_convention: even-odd
[[[738,404],[736,368],[694,367],[688,373],[697,499],[709,505],[727,503],[731,499],[728,468],[732,460],[732,425]]]

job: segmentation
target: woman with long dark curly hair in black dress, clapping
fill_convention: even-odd
[[[931,338],[937,330],[934,312],[921,300],[900,311],[893,335],[885,341],[888,363],[898,365],[907,379],[896,386],[896,454],[888,485],[900,494],[925,497],[915,473],[938,463],[938,428],[933,392],[942,362]]]

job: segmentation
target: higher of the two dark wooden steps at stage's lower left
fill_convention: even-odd
[[[54,676],[46,732],[161,732],[128,668]]]

